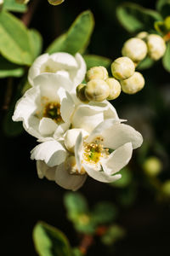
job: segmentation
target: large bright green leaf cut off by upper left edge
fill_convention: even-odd
[[[8,61],[31,65],[31,45],[26,26],[5,11],[0,12],[0,52]]]

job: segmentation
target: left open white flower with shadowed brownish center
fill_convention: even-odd
[[[59,137],[71,125],[75,104],[67,90],[72,83],[59,74],[43,74],[34,83],[16,103],[13,120],[23,121],[26,131],[40,141]]]

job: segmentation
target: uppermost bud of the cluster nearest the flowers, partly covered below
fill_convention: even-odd
[[[87,82],[92,79],[107,79],[108,78],[108,72],[107,69],[103,66],[99,67],[91,67],[88,72],[86,73],[86,80]]]

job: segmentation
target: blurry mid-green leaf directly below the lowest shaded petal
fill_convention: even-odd
[[[69,192],[64,197],[65,207],[69,216],[77,216],[88,212],[88,204],[85,198],[76,192]]]

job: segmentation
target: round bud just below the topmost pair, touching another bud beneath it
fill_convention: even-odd
[[[128,57],[120,57],[111,64],[111,73],[118,80],[130,78],[134,70],[134,63]]]

